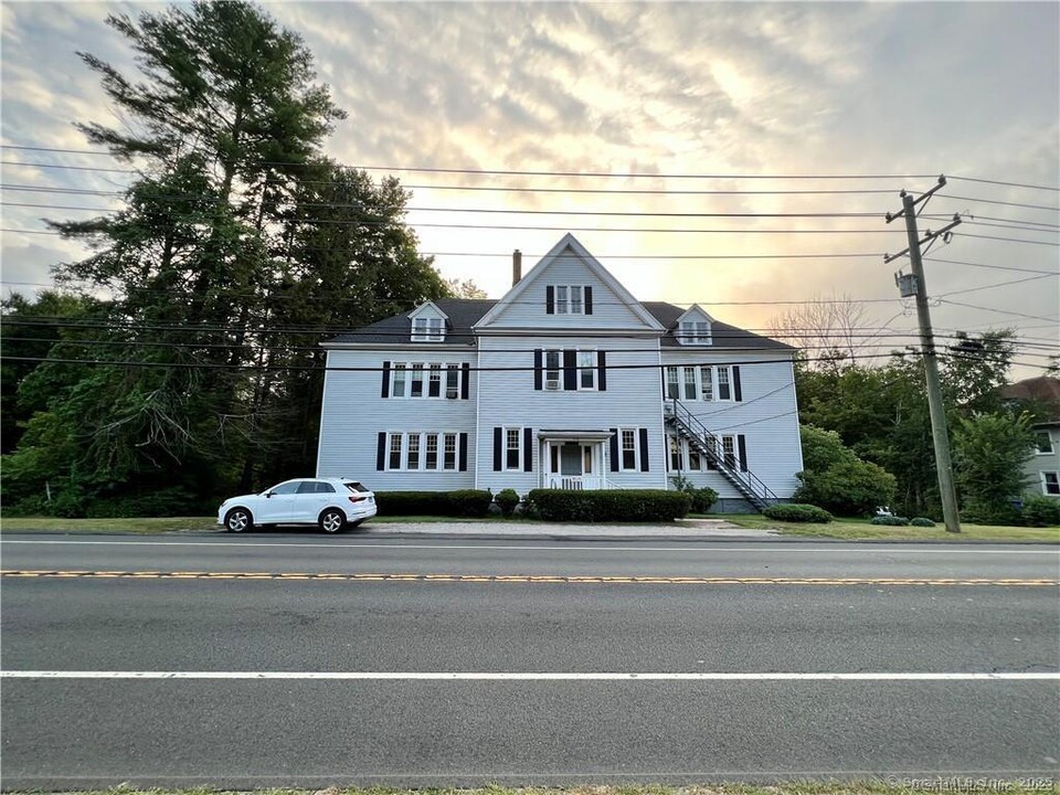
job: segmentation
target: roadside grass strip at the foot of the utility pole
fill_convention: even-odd
[[[947,533],[940,522],[933,528],[887,527],[870,524],[868,519],[837,519],[827,524],[813,522],[783,522],[766,519],[759,513],[730,513],[718,516],[745,528],[761,528],[776,530],[782,536],[808,536],[813,538],[835,538],[857,540],[893,540],[893,541],[923,541],[937,539],[940,541],[1053,541],[1060,543],[1060,527],[1025,528],[1025,527],[994,527],[990,524],[965,524],[962,522],[960,533]]]

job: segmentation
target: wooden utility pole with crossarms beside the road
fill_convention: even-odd
[[[928,285],[924,282],[924,263],[921,258],[921,245],[931,245],[942,237],[950,241],[950,230],[961,223],[961,216],[954,215],[953,221],[939,230],[928,234],[923,240],[916,231],[916,205],[926,202],[932,194],[946,184],[946,178],[940,177],[939,183],[919,199],[913,199],[904,190],[901,192],[902,211],[888,213],[887,222],[905,216],[905,233],[909,247],[893,256],[884,255],[883,262],[889,263],[904,254],[909,254],[909,262],[913,268],[912,278],[895,274],[895,282],[902,290],[902,297],[916,296],[916,318],[920,321],[920,341],[924,354],[924,377],[928,382],[928,407],[931,412],[931,436],[935,447],[935,469],[939,473],[939,491],[942,495],[942,516],[946,523],[946,532],[961,532],[961,519],[957,512],[957,495],[953,486],[953,464],[950,459],[950,435],[946,431],[946,411],[942,403],[942,389],[939,384],[939,360],[935,353],[935,337],[931,330],[931,312],[928,308]]]

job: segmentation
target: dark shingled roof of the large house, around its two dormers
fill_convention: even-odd
[[[474,346],[475,332],[473,327],[498,303],[499,301],[492,298],[435,299],[434,304],[438,310],[448,316],[445,335],[446,343]],[[674,331],[677,330],[680,318],[688,312],[687,309],[665,301],[642,301],[642,306],[650,314],[653,319],[657,321],[660,329],[666,330],[660,340],[662,348],[680,348],[687,350],[687,346],[681,346],[674,337]],[[719,320],[713,321],[712,329],[713,348],[750,348],[776,351],[794,350],[792,346],[777,342],[768,337],[761,337],[760,335],[745,331],[744,329],[730,326]],[[371,326],[364,326],[356,331],[338,335],[325,344],[402,344],[407,343],[411,336],[412,320],[409,319],[409,315],[394,315],[393,317],[373,322]],[[1056,379],[1052,380],[1056,381]]]

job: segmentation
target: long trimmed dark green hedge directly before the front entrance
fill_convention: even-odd
[[[527,505],[547,521],[674,521],[688,515],[691,498],[664,489],[533,489]]]

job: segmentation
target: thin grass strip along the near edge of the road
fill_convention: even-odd
[[[1038,785],[1038,786],[1036,786]],[[84,791],[82,791],[84,792]],[[707,784],[693,786],[662,786],[659,784],[629,784],[618,786],[575,787],[504,787],[489,785],[481,788],[424,788],[398,789],[392,787],[349,787],[339,789],[257,789],[258,795],[939,795],[940,792],[961,792],[971,795],[1057,795],[1060,783],[1050,778],[1021,782],[974,776],[933,776],[899,778],[887,782],[792,782],[770,786],[751,784]],[[75,795],[71,793],[70,795]],[[76,795],[82,795],[77,793]],[[84,795],[243,795],[223,789],[195,787],[192,789],[134,789],[115,787],[94,789]]]

